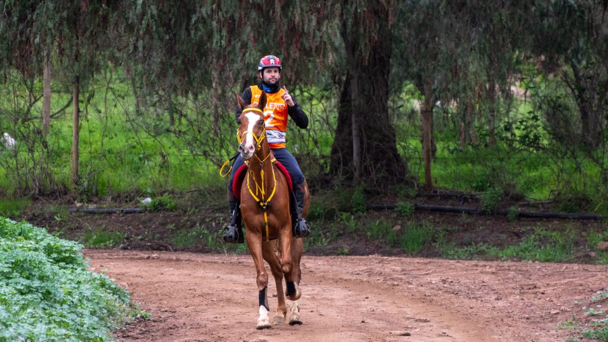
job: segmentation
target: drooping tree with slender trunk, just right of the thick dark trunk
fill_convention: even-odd
[[[421,140],[427,190],[431,184],[435,103],[454,106],[461,145],[475,144],[479,124],[496,145],[499,99],[511,98],[514,56],[529,13],[521,1],[401,1],[393,80],[412,82],[423,96]],[[399,89],[399,88],[397,88]]]

